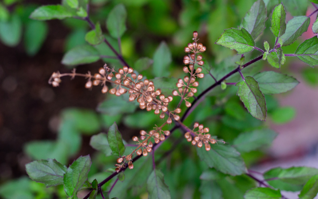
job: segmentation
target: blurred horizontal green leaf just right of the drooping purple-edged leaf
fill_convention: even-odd
[[[265,71],[254,75],[263,94],[278,94],[295,88],[299,82],[292,76]]]

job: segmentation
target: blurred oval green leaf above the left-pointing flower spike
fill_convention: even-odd
[[[76,46],[69,50],[62,59],[62,64],[75,66],[93,63],[100,59],[98,51],[90,45]]]

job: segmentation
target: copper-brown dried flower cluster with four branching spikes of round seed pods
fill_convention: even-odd
[[[147,111],[154,110],[154,114],[159,115],[161,119],[168,115],[168,119],[164,122],[160,127],[155,127],[154,130],[149,131],[148,133],[144,130],[140,131],[140,137],[134,136],[132,139],[135,142],[138,142],[138,146],[127,156],[122,156],[117,159],[116,171],[119,172],[122,168],[125,168],[125,164],[128,164],[130,169],[134,168],[132,163],[132,157],[136,153],[137,155],[147,156],[148,153],[152,151],[153,143],[151,138],[157,144],[160,141],[166,139],[166,136],[170,135],[170,131],[163,131],[162,127],[166,124],[172,123],[172,118],[183,126],[184,129],[187,129],[189,132],[185,133],[185,138],[190,142],[192,141],[192,145],[197,145],[198,147],[202,147],[205,145],[205,149],[209,151],[211,144],[217,143],[219,140],[215,140],[211,138],[211,135],[208,134],[209,128],[203,128],[203,124],[198,124],[197,122],[194,124],[194,129],[198,127],[198,131],[190,130],[188,127],[184,126],[182,122],[180,122],[180,116],[177,115],[181,113],[181,109],[179,108],[183,100],[185,101],[185,105],[187,107],[191,106],[191,103],[187,100],[189,97],[194,96],[194,93],[197,92],[197,87],[199,82],[196,81],[196,78],[203,78],[204,74],[201,73],[202,68],[198,67],[194,70],[194,65],[197,64],[202,66],[204,61],[202,60],[202,55],[197,55],[197,53],[204,52],[206,47],[201,43],[197,43],[197,31],[193,32],[193,43],[189,43],[187,47],[184,48],[185,52],[190,53],[190,56],[184,56],[183,63],[189,64],[189,68],[187,66],[183,67],[183,71],[185,73],[190,73],[190,76],[185,76],[182,79],[178,79],[176,86],[178,90],[173,90],[172,95],[181,96],[181,100],[177,106],[177,108],[173,111],[168,110],[169,103],[173,100],[172,96],[164,96],[161,93],[160,89],[155,89],[155,85],[152,81],[143,78],[143,76],[136,75],[134,73],[133,68],[129,68],[124,66],[120,68],[118,71],[115,71],[114,68],[109,68],[107,64],[104,65],[104,68],[99,69],[99,73],[91,75],[88,71],[87,74],[79,74],[76,73],[75,68],[72,73],[60,74],[59,72],[54,72],[49,79],[49,84],[52,84],[53,87],[59,86],[61,82],[61,77],[70,76],[73,79],[75,76],[82,76],[87,79],[85,84],[85,88],[92,89],[93,86],[101,85],[102,93],[110,93],[112,95],[121,96],[125,93],[129,93],[129,101],[134,101],[137,99],[139,103],[139,107],[141,109],[146,109]],[[190,70],[189,70],[190,69]],[[106,82],[109,82],[113,85],[113,88],[108,89]],[[192,140],[192,136],[194,139]],[[139,139],[141,141],[139,141]],[[222,141],[223,142],[223,141]],[[224,142],[225,143],[225,142]]]

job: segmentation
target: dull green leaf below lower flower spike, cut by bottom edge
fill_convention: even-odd
[[[163,173],[155,169],[151,172],[147,180],[147,190],[149,199],[170,199],[170,191],[164,183]]]

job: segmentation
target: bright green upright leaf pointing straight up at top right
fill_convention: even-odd
[[[285,33],[286,30],[286,12],[283,3],[275,6],[272,14],[272,26],[270,27],[275,37],[280,37]]]

